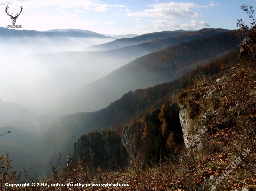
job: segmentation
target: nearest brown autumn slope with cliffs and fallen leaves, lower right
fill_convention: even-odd
[[[247,6],[243,8],[249,15],[253,13],[248,11]],[[54,171],[50,181],[65,182],[69,178],[82,181],[86,175],[87,180],[94,183],[102,180],[127,182],[126,187],[122,187],[123,190],[254,191],[254,20],[252,25],[249,30],[242,20],[238,21],[238,26],[247,34],[241,51],[231,52],[228,56],[189,72],[179,81],[183,86],[181,89],[170,91],[167,87],[171,83],[164,83],[136,90],[141,90],[140,95],[129,92],[131,101],[132,97],[137,96],[139,102],[144,99],[142,102],[148,104],[151,99],[147,100],[147,92],[150,89],[164,87],[167,94],[160,100],[155,100],[154,104],[151,103],[142,113],[136,113],[122,130],[119,127],[109,127],[102,129],[101,133],[90,132],[81,136],[74,146],[74,157],[80,161],[70,165],[71,167],[62,168],[60,173]],[[152,91],[150,95],[159,95],[164,92],[163,89]],[[136,98],[134,102],[135,100]],[[131,107],[124,105],[122,108]],[[178,133],[181,129],[183,140]],[[114,139],[108,138],[116,138],[120,136],[120,132],[119,141],[123,149],[115,149],[118,143],[115,141],[113,144]],[[98,139],[95,140],[95,137]],[[102,158],[97,150],[99,146],[101,153],[115,150],[121,154],[115,154],[116,158],[111,158],[112,152],[109,152],[110,158],[109,153]],[[128,155],[126,168],[122,168],[121,164],[124,153]],[[106,159],[109,160],[106,162]],[[107,165],[105,169],[104,164]],[[94,186],[88,185],[88,190],[120,189],[115,185]]]

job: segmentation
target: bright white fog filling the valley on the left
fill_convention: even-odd
[[[0,155],[8,151],[17,168],[29,164],[32,173],[49,169],[47,164],[54,162],[55,153],[51,155],[46,142],[51,138],[45,132],[54,129],[60,116],[54,112],[54,102],[62,93],[93,82],[133,59],[127,56],[121,62],[115,53],[83,51],[115,39],[88,30],[0,28],[0,134],[11,131],[0,139]]]

